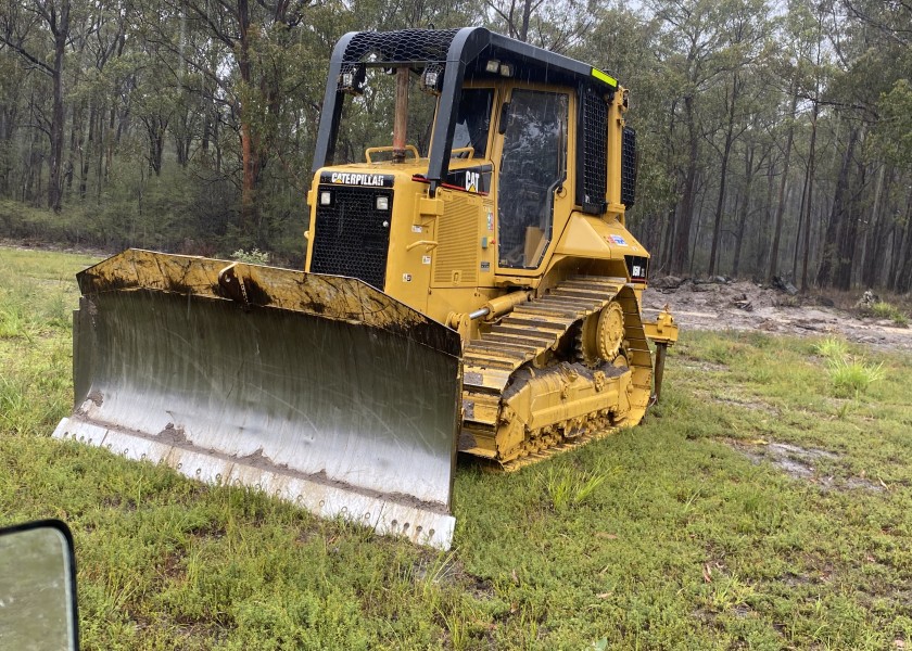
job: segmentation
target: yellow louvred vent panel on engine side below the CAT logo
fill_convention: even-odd
[[[454,271],[459,272],[456,284],[477,284],[478,218],[479,206],[472,197],[456,195],[447,202],[446,214],[438,221],[435,284],[452,284]]]

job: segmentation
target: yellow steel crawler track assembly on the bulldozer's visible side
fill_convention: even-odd
[[[572,330],[583,319],[599,312],[612,299],[624,315],[623,357],[617,366],[615,360],[603,360],[601,370],[586,369],[567,355],[567,337],[573,336]],[[544,379],[548,373],[550,379]],[[555,380],[558,374],[562,380]],[[619,426],[638,423],[649,400],[651,379],[651,355],[639,305],[625,280],[571,278],[546,295],[518,306],[466,346],[459,449],[497,461],[506,470],[547,458]],[[523,381],[531,385],[533,395],[565,382],[559,409],[562,416],[543,422],[540,416],[521,412],[512,395]],[[604,391],[606,382],[610,391]],[[530,426],[533,422],[535,426]],[[517,423],[523,430],[519,438]]]

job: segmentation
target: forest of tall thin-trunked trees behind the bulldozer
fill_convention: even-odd
[[[910,0],[0,0],[0,237],[300,265],[334,42],[430,25],[631,89],[654,275],[912,289]]]

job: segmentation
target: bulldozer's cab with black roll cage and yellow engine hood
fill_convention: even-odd
[[[381,175],[389,214],[367,209],[368,199],[357,207],[354,194],[350,206],[317,204],[307,269],[362,278],[416,309],[427,298],[402,283],[493,288],[541,278],[571,214],[623,224],[621,193],[608,182],[620,176],[608,161],[621,157],[608,152],[618,92],[590,65],[484,28],[346,35],[331,59],[315,183]],[[367,120],[392,143],[366,141]],[[314,190],[343,195],[328,183]],[[441,199],[445,206],[434,203]],[[369,278],[346,261],[365,247],[343,237],[365,231],[365,221],[367,248],[378,253]]]

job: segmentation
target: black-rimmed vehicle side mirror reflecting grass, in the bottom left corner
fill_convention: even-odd
[[[0,529],[4,649],[79,648],[73,534],[60,520]]]

